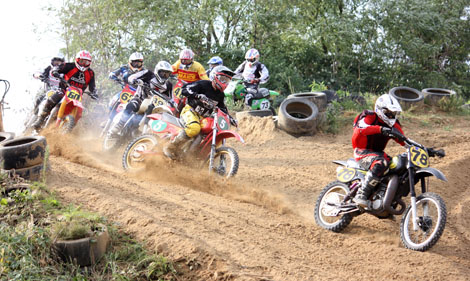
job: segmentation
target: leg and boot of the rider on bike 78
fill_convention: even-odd
[[[367,156],[360,160],[361,164],[371,163],[362,185],[359,187],[353,201],[359,206],[365,208],[369,205],[369,197],[374,192],[374,188],[380,182],[380,176],[383,175],[388,167],[388,161],[383,155]]]

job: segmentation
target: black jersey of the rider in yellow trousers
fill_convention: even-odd
[[[186,84],[181,88],[181,94],[188,97],[187,104],[189,104],[201,116],[207,117],[212,113],[212,109],[207,108],[204,103],[196,98],[196,95],[198,94],[204,95],[209,98],[209,100],[217,102],[217,107],[228,114],[227,107],[224,103],[224,93],[214,89],[214,87],[212,87],[212,81],[200,80]]]

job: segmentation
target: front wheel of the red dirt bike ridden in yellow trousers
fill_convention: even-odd
[[[209,160],[208,158],[205,161],[206,167],[209,166]],[[212,172],[225,178],[233,177],[238,172],[239,161],[235,149],[231,147],[219,147],[215,151]]]

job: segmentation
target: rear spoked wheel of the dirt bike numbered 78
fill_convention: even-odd
[[[315,204],[315,222],[324,229],[340,232],[352,221],[351,214],[338,215],[338,206],[348,194],[349,187],[339,181],[328,184]]]

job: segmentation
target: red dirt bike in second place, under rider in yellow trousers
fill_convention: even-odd
[[[122,165],[125,170],[138,170],[144,160],[153,155],[164,155],[158,144],[159,141],[171,141],[184,125],[168,113],[148,116],[148,132],[132,140],[124,151]],[[238,171],[239,158],[235,149],[226,146],[226,139],[235,138],[244,143],[243,138],[230,129],[229,117],[214,105],[209,117],[202,119],[201,132],[181,147],[179,157],[195,156],[202,166],[209,168],[209,173],[215,172],[224,177],[232,177]]]

